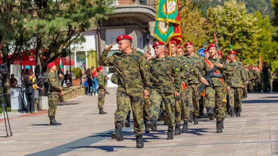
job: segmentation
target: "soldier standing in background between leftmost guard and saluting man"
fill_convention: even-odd
[[[105,75],[102,74],[103,69],[102,67],[96,68],[98,71],[98,76],[96,77],[98,81],[98,109],[99,109],[99,114],[107,114],[107,112],[103,111],[103,104],[104,104],[104,97],[105,97],[105,81],[108,80],[109,78],[106,77]]]

